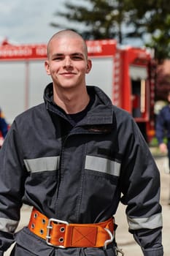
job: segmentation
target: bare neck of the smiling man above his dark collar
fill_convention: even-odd
[[[54,102],[68,114],[79,113],[85,109],[90,101],[86,86],[80,92],[78,89],[74,91],[65,89],[62,93],[61,91],[59,93],[58,91],[56,92],[55,89],[53,91]]]

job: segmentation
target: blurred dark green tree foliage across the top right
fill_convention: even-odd
[[[155,48],[159,62],[170,58],[170,4],[169,0],[86,0],[65,1],[66,10],[55,12],[57,20],[51,23],[63,29],[77,30],[85,39],[115,38],[140,39],[143,45]],[[72,24],[84,24],[75,29]]]

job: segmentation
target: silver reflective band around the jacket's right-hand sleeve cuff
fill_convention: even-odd
[[[162,227],[162,214],[155,214],[148,218],[128,217],[128,225],[131,230],[139,230],[142,228],[154,229],[157,227]]]

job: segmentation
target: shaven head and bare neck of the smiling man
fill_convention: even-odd
[[[66,113],[80,112],[90,100],[85,74],[90,72],[91,61],[84,40],[72,31],[55,34],[47,45],[47,56],[45,68],[53,79],[55,103]]]

